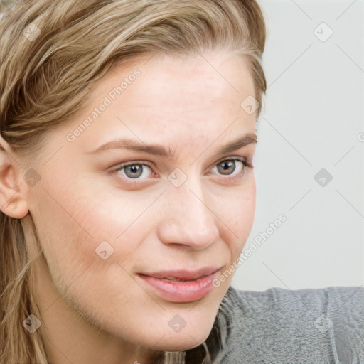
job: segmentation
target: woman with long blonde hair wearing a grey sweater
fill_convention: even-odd
[[[256,1],[25,0],[0,34],[1,363],[364,360],[362,289],[230,286]]]

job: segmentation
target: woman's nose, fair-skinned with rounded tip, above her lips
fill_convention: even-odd
[[[213,245],[220,232],[215,221],[218,206],[210,205],[203,196],[200,178],[189,178],[178,188],[168,184],[164,193],[159,240],[164,244],[180,244],[204,250]]]

